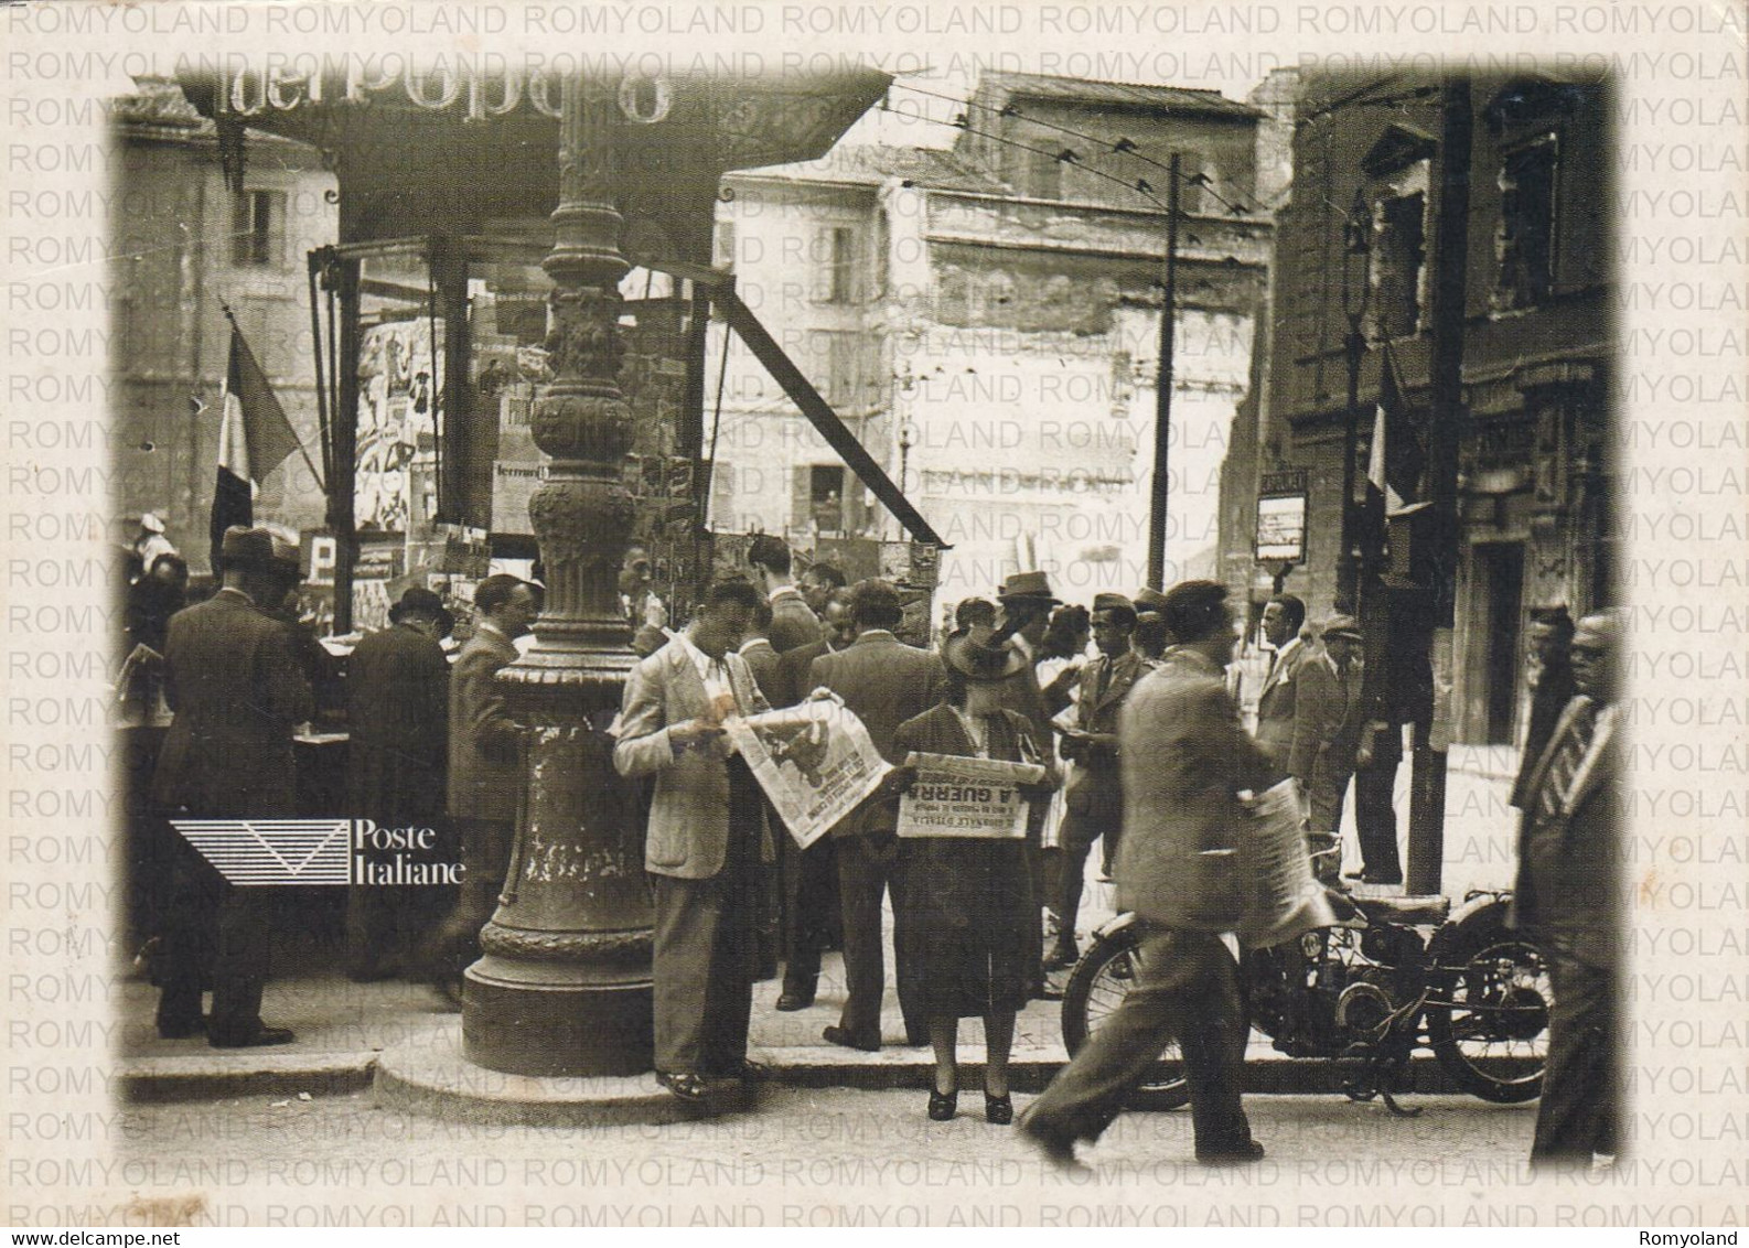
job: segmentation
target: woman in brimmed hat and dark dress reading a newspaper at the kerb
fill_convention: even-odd
[[[1025,659],[988,645],[988,627],[957,633],[943,647],[946,699],[906,720],[894,734],[899,757],[948,753],[1002,762],[1044,762],[1030,724],[1002,708],[1000,682]],[[909,773],[911,769],[901,769]],[[915,776],[915,773],[911,773]],[[902,785],[909,776],[901,774]],[[1049,783],[1027,787],[1034,801]],[[985,1021],[985,1119],[1014,1119],[1007,1091],[1007,1056],[1014,1014],[1027,1003],[1037,970],[1039,902],[1027,863],[1027,841],[901,841],[904,905],[916,937],[922,1009],[936,1050],[936,1085],[929,1117],[953,1117],[958,1094],[955,1045],[964,1017]]]

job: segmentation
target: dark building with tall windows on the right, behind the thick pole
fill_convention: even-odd
[[[1453,734],[1511,745],[1529,610],[1613,601],[1613,203],[1599,82],[1471,82],[1464,416],[1459,435]],[[1431,77],[1301,84],[1291,199],[1277,217],[1270,344],[1235,425],[1223,568],[1252,594],[1259,491],[1307,491],[1305,561],[1286,589],[1313,619],[1336,600],[1350,316],[1362,337],[1357,479],[1394,364],[1401,428],[1427,444],[1431,246],[1439,93]],[[1403,502],[1425,498],[1410,488]]]

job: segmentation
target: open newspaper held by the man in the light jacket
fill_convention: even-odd
[[[735,715],[722,727],[803,849],[892,771],[862,720],[838,697]]]

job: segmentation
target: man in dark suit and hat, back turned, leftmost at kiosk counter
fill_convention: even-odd
[[[292,729],[315,711],[290,629],[268,612],[297,584],[297,551],[264,528],[233,526],[219,547],[224,587],[170,617],[164,701],[175,711],[152,778],[171,818],[292,818]],[[259,895],[233,888],[173,837],[171,897],[157,968],[157,1033],[215,1049],[290,1043],[261,1021],[269,930]],[[201,991],[212,981],[212,1019]]]

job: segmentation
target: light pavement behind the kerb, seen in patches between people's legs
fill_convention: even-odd
[[[1515,820],[1506,806],[1511,752],[1453,750],[1446,790],[1445,886],[1460,902],[1471,888],[1504,888],[1513,874]],[[1406,835],[1408,767],[1399,773],[1399,835]],[[1352,802],[1350,802],[1352,806]],[[1354,855],[1352,811],[1345,816],[1345,844]],[[1091,855],[1090,872],[1098,855]],[[1352,865],[1352,860],[1350,860]],[[1111,886],[1088,881],[1083,935],[1105,921]],[[1396,891],[1396,890],[1380,890]],[[1083,940],[1084,944],[1084,940]],[[890,989],[885,995],[887,1049],[862,1054],[820,1040],[820,1030],[838,1021],[843,974],[827,954],[815,1005],[796,1014],[773,1009],[777,981],[757,984],[754,996],[754,1056],[777,1066],[787,1082],[806,1085],[922,1087],[930,1066],[927,1049],[902,1045],[904,1028]],[[1062,977],[1058,977],[1062,979]],[[397,981],[352,984],[334,970],[275,979],[262,1014],[289,1026],[297,1042],[280,1049],[215,1050],[203,1040],[159,1040],[152,1026],[156,991],[138,977],[121,986],[122,1028],[119,1059],[124,1087],[135,1099],[187,1099],[241,1091],[345,1091],[369,1082],[383,1049],[453,1043],[458,1016],[429,988]],[[981,1024],[960,1028],[962,1061],[983,1057]],[[1252,1057],[1263,1063],[1254,1085],[1270,1091],[1322,1091],[1333,1087],[1329,1063],[1294,1063],[1254,1037]],[[1020,1016],[1014,1037],[1014,1085],[1042,1085],[1067,1059],[1058,1002],[1032,1002]],[[1272,1073],[1273,1070],[1273,1073]]]

